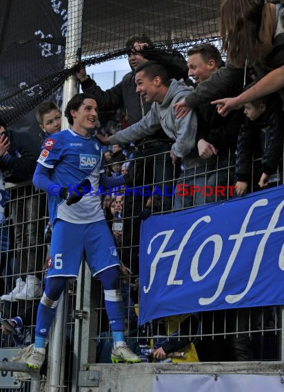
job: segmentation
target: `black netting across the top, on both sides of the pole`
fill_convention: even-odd
[[[148,34],[155,47],[176,47],[185,56],[194,43],[218,37],[220,2],[2,0],[1,118],[12,124],[36,107],[74,72],[79,58],[91,65],[125,56],[132,35]]]

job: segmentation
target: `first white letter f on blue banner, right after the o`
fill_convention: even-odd
[[[243,239],[245,237],[252,237],[256,234],[255,231],[254,232],[245,231],[247,228],[247,224],[250,221],[250,217],[252,216],[253,210],[256,207],[266,206],[267,203],[268,203],[267,199],[260,199],[257,200],[254,204],[252,204],[252,206],[250,206],[250,210],[247,211],[247,215],[245,216],[245,220],[243,221],[240,232],[236,235],[230,235],[229,239],[235,239],[236,243],[234,244],[234,248],[232,250],[232,253],[230,254],[229,260],[227,261],[227,265],[225,267],[223,275],[221,276],[217,290],[215,294],[210,298],[199,298],[200,305],[209,305],[210,303],[214,302],[215,299],[218,298],[221,292],[223,291],[225,281],[227,279],[227,276],[230,274],[230,270],[232,268],[232,265],[234,264],[239,249],[241,248],[241,243],[243,242]]]

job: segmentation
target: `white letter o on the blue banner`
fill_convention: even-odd
[[[214,255],[213,255],[212,263],[210,265],[210,268],[208,268],[208,270],[205,272],[205,274],[199,275],[199,257],[205,245],[210,241],[214,242]],[[194,257],[192,259],[192,265],[190,267],[190,276],[192,277],[192,281],[194,282],[202,281],[202,279],[204,279],[207,276],[207,274],[210,274],[210,272],[215,267],[217,261],[219,260],[220,254],[222,252],[222,248],[223,248],[223,241],[220,235],[212,235],[211,237],[205,239],[203,243],[201,243],[201,246],[199,246],[198,250],[196,250],[194,254]]]

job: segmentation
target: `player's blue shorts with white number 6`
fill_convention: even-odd
[[[93,276],[120,264],[105,220],[72,224],[57,219],[52,230],[47,277],[78,276],[83,251]]]

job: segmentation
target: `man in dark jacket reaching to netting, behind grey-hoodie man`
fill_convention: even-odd
[[[94,96],[99,110],[109,111],[123,107],[128,115],[128,124],[132,125],[139,122],[150,111],[152,104],[152,102],[145,102],[139,94],[136,94],[135,69],[149,60],[159,61],[167,68],[170,77],[179,80],[187,78],[187,66],[185,59],[179,52],[157,50],[146,34],[132,36],[126,43],[126,51],[132,71],[123,76],[121,82],[111,89],[103,91],[94,80],[87,76],[85,69],[81,69],[76,76],[83,91]],[[175,173],[172,160],[167,153],[170,151],[172,143],[173,140],[165,135],[163,129],[137,141],[137,151],[132,154],[134,161],[130,163],[129,167],[129,171],[131,171],[131,166],[135,164],[137,159],[140,159],[145,165],[143,184],[165,184],[168,187],[168,195],[172,193],[174,177],[179,175],[179,173]],[[159,155],[154,156],[154,154]],[[123,217],[134,218],[125,219],[123,223],[122,261],[135,274],[138,273],[139,214],[146,200],[147,198],[143,198],[141,195],[135,197],[129,195],[125,197],[124,202]],[[161,199],[159,195],[156,195],[154,205],[156,210],[170,210],[172,197],[164,196]],[[132,251],[130,246],[134,246]]]

